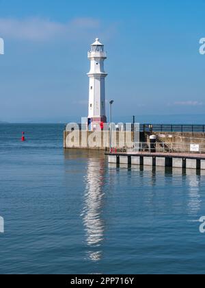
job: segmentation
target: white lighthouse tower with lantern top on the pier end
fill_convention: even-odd
[[[88,52],[90,60],[90,72],[87,73],[90,77],[89,84],[89,108],[88,108],[88,127],[94,129],[96,124],[107,122],[105,112],[105,77],[107,73],[104,70],[104,60],[107,58],[107,53],[104,51],[104,45],[99,39],[91,45]]]

